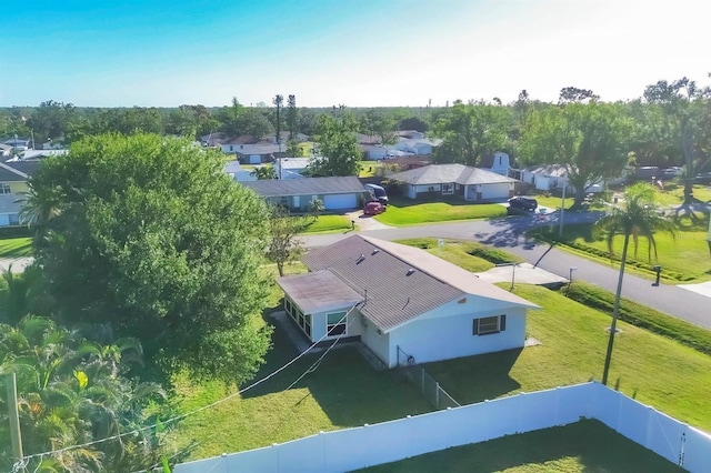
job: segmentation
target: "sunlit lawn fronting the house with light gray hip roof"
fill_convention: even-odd
[[[375,219],[388,225],[405,227],[428,222],[491,219],[505,217],[505,207],[495,203],[464,201],[423,203],[404,198],[392,198],[388,204],[388,211]]]

